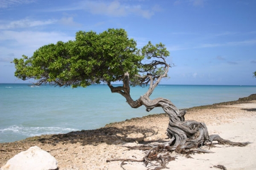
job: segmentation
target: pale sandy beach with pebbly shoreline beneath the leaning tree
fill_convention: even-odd
[[[208,107],[188,109],[187,120],[204,122],[211,134],[233,142],[251,142],[245,147],[217,144],[207,148],[213,154],[185,155],[172,153],[169,169],[255,169],[256,167],[256,100],[226,103]],[[76,131],[68,134],[43,135],[13,143],[0,143],[0,167],[14,155],[31,146],[38,146],[49,152],[63,169],[148,169],[141,162],[106,162],[108,159],[142,159],[145,151],[130,150],[123,146],[138,146],[141,143],[167,141],[166,114],[148,115],[123,122],[110,123],[97,130]]]

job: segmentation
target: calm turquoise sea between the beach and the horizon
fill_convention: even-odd
[[[118,86],[118,85],[115,85]],[[148,87],[131,88],[138,99]],[[151,95],[168,98],[178,109],[234,101],[256,93],[256,86],[158,85]],[[33,84],[0,84],[0,143],[30,136],[92,130],[108,123],[164,113],[162,108],[147,112],[144,106],[131,108],[108,85],[86,88]]]

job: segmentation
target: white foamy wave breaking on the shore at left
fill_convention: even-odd
[[[22,125],[13,125],[7,128],[0,128],[0,134],[16,134],[27,137],[47,134],[62,134],[70,131],[77,131],[77,129],[64,127],[24,127]]]

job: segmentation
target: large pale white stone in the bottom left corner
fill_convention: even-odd
[[[38,146],[30,147],[12,157],[1,170],[52,170],[57,169],[57,160]]]

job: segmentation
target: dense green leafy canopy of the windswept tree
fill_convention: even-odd
[[[168,56],[164,45],[149,42],[142,50],[136,46],[123,29],[109,29],[100,34],[79,31],[73,41],[44,45],[30,58],[23,55],[22,59],[14,59],[15,76],[22,80],[34,78],[39,85],[51,83],[76,88],[122,81],[126,72],[130,77],[142,72],[160,74],[160,68],[143,64],[143,59]],[[136,79],[136,83],[141,82]]]

